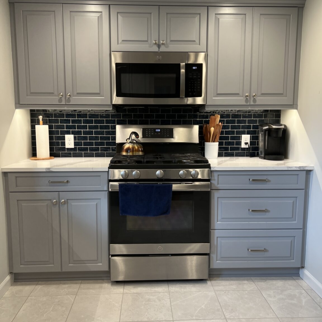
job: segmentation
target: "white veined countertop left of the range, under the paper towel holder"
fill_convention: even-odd
[[[23,160],[1,169],[2,172],[108,171],[111,158],[54,158]]]

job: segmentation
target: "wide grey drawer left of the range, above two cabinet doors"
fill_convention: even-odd
[[[107,172],[8,173],[9,191],[107,190]]]

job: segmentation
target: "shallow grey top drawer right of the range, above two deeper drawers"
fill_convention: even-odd
[[[211,189],[304,189],[305,171],[212,171]]]

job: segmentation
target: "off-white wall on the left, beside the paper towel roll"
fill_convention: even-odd
[[[0,0],[0,168],[31,156],[28,110],[14,109],[9,4]],[[7,278],[8,252],[2,176],[0,178],[0,284]]]

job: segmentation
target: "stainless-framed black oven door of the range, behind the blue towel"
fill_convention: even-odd
[[[210,183],[172,184],[171,212],[157,217],[121,216],[118,183],[109,184],[111,255],[209,253]]]

